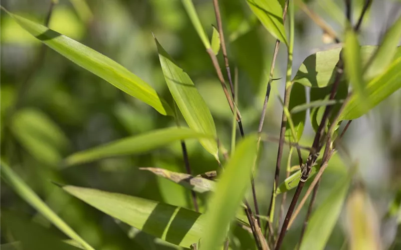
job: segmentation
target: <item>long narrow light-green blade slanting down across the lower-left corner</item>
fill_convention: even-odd
[[[75,239],[85,249],[94,250],[81,238],[66,222],[64,222],[39,196],[5,163],[0,159],[0,172],[2,178],[31,206],[51,221],[67,236]]]

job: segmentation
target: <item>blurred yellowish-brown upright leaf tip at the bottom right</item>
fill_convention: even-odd
[[[346,228],[349,239],[348,249],[381,249],[377,213],[369,197],[361,189],[355,189],[348,197]]]

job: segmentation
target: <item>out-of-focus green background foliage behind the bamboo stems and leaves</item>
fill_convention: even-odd
[[[212,24],[216,25],[212,0],[193,2],[211,37]],[[338,34],[342,34],[345,20],[343,1],[306,2]],[[334,3],[337,8],[330,7],[327,2]],[[355,18],[359,15],[362,2],[353,1],[352,13]],[[238,104],[245,132],[248,133],[256,131],[258,127],[275,39],[253,16],[244,0],[220,0],[220,4],[233,74],[234,68],[238,67]],[[50,0],[2,0],[2,5],[14,13],[43,22]],[[362,26],[361,43],[377,44],[385,28],[400,12],[399,2],[374,1]],[[0,12],[0,21],[1,157],[96,249],[172,249],[173,246],[116,222],[69,196],[50,180],[191,208],[190,193],[185,188],[138,169],[161,167],[184,172],[179,142],[132,157],[110,158],[67,169],[60,168],[61,160],[72,152],[155,128],[174,126],[174,120],[160,115],[147,104],[123,93],[51,49],[46,48],[45,56],[39,62],[41,43],[3,11]],[[50,28],[114,59],[169,99],[153,32],[192,78],[211,109],[220,138],[226,145],[230,145],[232,114],[229,105],[209,55],[180,0],[60,0],[54,8]],[[307,55],[329,46],[324,43],[322,35],[321,29],[305,13],[296,11],[293,72]],[[223,66],[221,54],[219,59]],[[285,78],[285,65],[286,50],[281,46],[275,78]],[[35,70],[31,75],[33,68]],[[283,87],[284,79],[273,82],[264,125],[265,132],[276,136],[279,134],[282,112],[277,96],[283,94]],[[301,142],[310,145],[314,134],[309,117],[305,123]],[[380,218],[387,212],[394,193],[401,188],[400,138],[399,90],[368,115],[355,120],[346,134],[345,146],[352,158],[359,162],[359,173]],[[196,140],[186,142],[193,174],[218,168],[213,156]],[[260,155],[256,188],[260,209],[266,213],[277,144],[264,142]],[[285,169],[287,157],[288,148],[284,151],[282,169]],[[295,164],[297,158],[294,155],[292,165]],[[348,167],[339,155],[331,159],[322,179],[317,204]],[[37,215],[4,182],[0,182],[0,185],[2,208],[29,215],[33,220],[51,228],[61,238],[65,237],[46,219]],[[289,193],[290,197],[292,193]],[[206,197],[199,195],[199,199],[203,210]],[[278,212],[277,209],[276,214]],[[305,213],[302,211],[288,232],[283,248],[294,247]],[[393,220],[382,220],[383,245],[388,247],[393,242],[396,226]],[[252,242],[251,235],[243,232],[238,235],[241,249],[254,249],[253,244],[249,243]],[[7,229],[2,227],[0,243],[12,239]],[[346,230],[340,219],[327,249],[340,249],[345,239]],[[400,243],[393,246],[401,247]]]

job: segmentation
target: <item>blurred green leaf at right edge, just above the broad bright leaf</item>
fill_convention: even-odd
[[[399,41],[401,40],[401,16],[387,30],[381,41],[380,46],[374,53],[370,64],[366,70],[366,78],[371,78],[384,71],[391,63],[392,55],[397,50]]]

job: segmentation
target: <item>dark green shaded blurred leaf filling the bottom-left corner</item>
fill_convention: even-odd
[[[77,247],[66,244],[57,238],[43,226],[32,222],[28,217],[4,210],[1,213],[0,221],[3,224],[3,228],[9,229],[13,238],[20,240],[19,242],[14,242],[11,247],[15,248],[11,249],[20,249],[22,247],[30,250],[78,250]],[[3,246],[0,249],[3,250]]]

